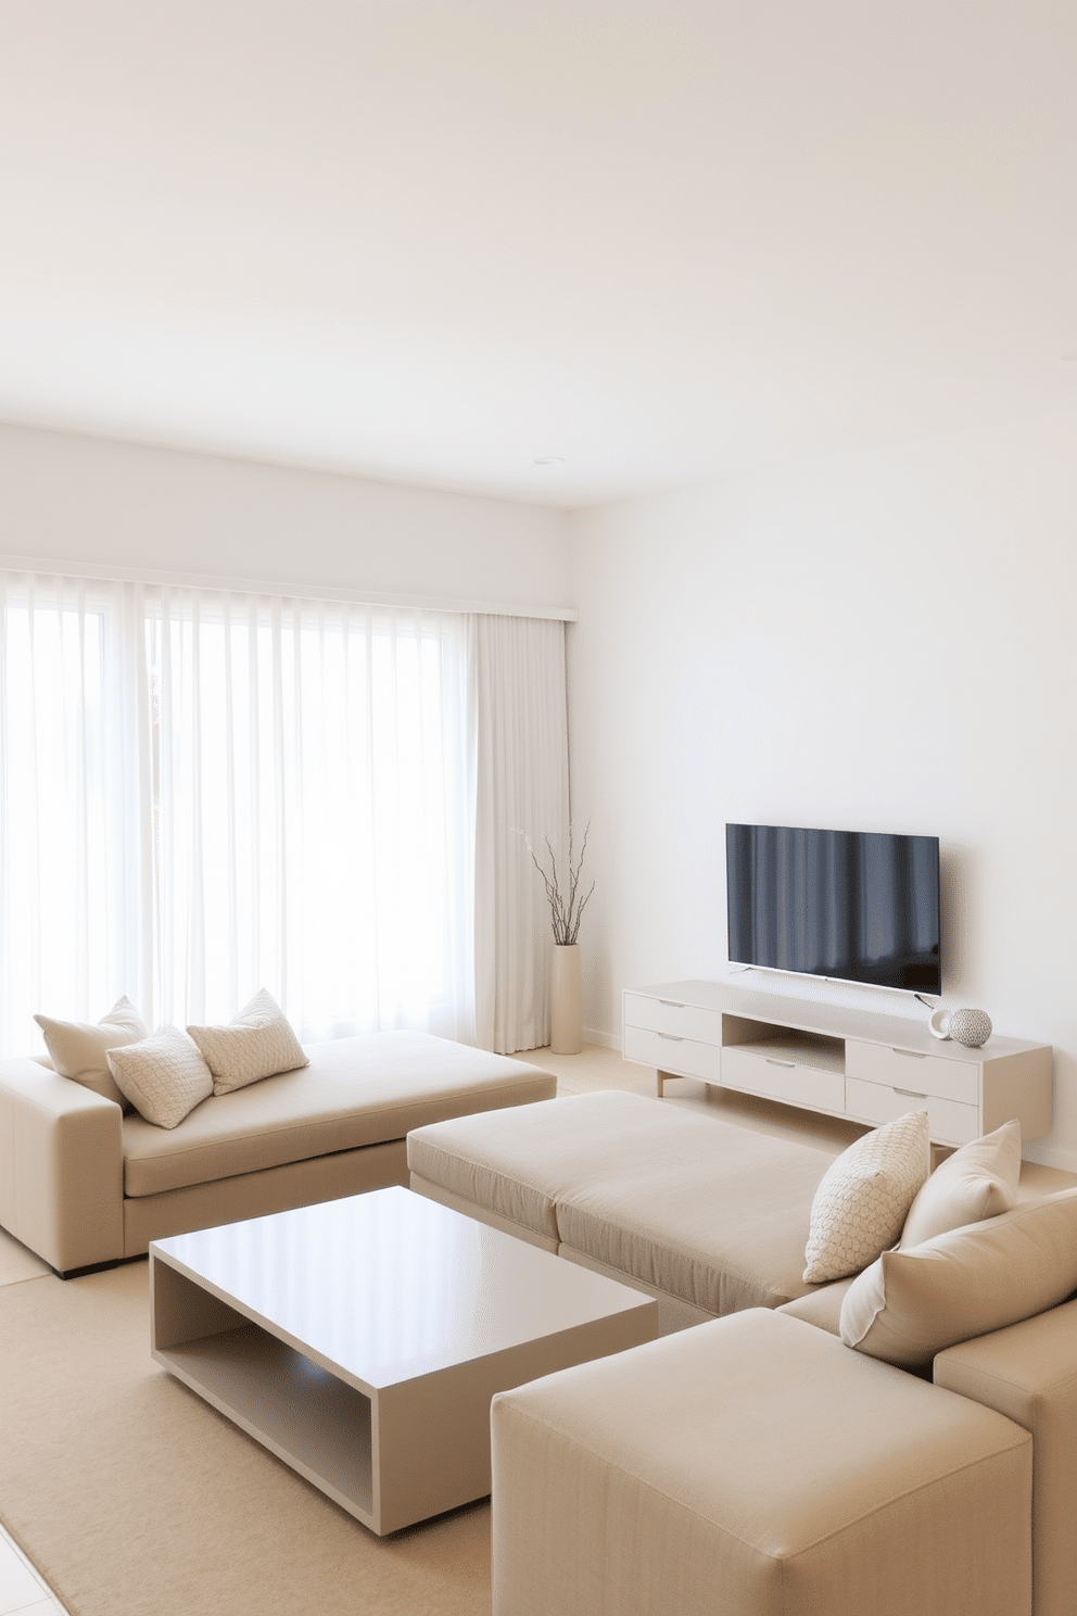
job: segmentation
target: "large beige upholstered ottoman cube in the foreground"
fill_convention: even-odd
[[[1027,1616],[1032,1440],[769,1309],[494,1398],[494,1616]]]

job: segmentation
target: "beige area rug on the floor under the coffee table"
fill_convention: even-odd
[[[375,1537],[152,1361],[147,1290],[0,1286],[0,1519],[73,1616],[488,1616],[489,1504]]]

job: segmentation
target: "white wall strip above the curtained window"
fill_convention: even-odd
[[[562,511],[21,427],[0,427],[0,554],[568,601]]]

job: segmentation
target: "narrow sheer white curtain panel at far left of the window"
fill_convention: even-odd
[[[121,593],[0,574],[0,1054],[36,1010],[102,1015],[142,979],[150,819],[137,779]]]

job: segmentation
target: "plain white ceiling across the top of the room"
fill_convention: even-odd
[[[6,420],[575,506],[1067,354],[1077,0],[0,0]]]

